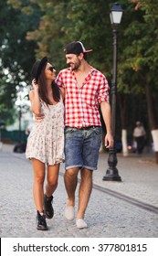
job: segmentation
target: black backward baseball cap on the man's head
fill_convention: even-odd
[[[74,41],[69,43],[65,48],[64,51],[66,54],[79,54],[79,53],[89,53],[92,49],[85,49],[83,44],[79,41]]]

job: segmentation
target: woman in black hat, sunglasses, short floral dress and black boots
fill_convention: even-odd
[[[47,230],[46,218],[51,219],[54,215],[52,200],[58,187],[59,164],[64,161],[64,105],[55,83],[56,69],[47,61],[47,57],[35,62],[32,74],[35,79],[29,100],[31,111],[36,118],[40,118],[28,136],[26,158],[31,159],[35,176],[33,195],[37,208],[37,229]]]

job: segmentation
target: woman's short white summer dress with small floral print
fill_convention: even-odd
[[[26,158],[36,158],[47,165],[64,162],[64,104],[56,105],[41,101],[44,119],[34,123],[27,138]]]

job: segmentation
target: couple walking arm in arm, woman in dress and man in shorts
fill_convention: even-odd
[[[36,116],[26,145],[26,158],[34,170],[33,195],[37,208],[37,229],[47,230],[53,218],[53,194],[58,187],[59,165],[65,161],[64,182],[68,194],[65,217],[75,218],[75,191],[79,185],[78,229],[84,220],[92,189],[92,172],[97,169],[101,144],[100,110],[106,124],[105,146],[113,144],[109,85],[105,76],[90,66],[86,50],[79,41],[65,49],[68,69],[56,78],[56,69],[43,58],[33,66],[33,90],[29,92],[31,111]],[[47,166],[47,184],[44,180]]]

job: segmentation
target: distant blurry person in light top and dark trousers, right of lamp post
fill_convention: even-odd
[[[133,140],[136,142],[137,153],[142,154],[146,140],[146,132],[140,121],[136,122],[136,126],[133,130]]]

